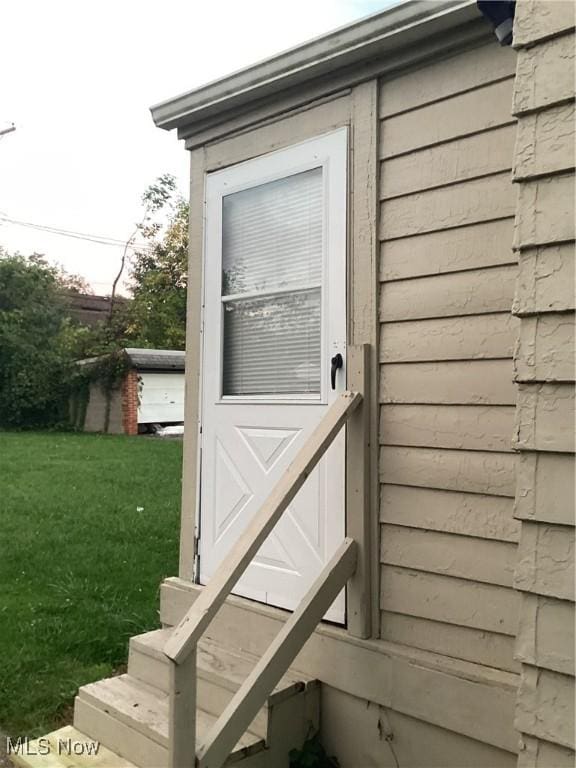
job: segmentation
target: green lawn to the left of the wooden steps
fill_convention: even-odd
[[[177,573],[180,441],[0,433],[0,729],[57,727]]]

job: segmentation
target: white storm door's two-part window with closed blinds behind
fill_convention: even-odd
[[[224,395],[320,393],[322,196],[314,168],[223,198]]]

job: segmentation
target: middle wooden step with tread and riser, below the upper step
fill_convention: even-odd
[[[199,709],[197,743],[202,743],[216,721]],[[168,758],[168,696],[131,675],[100,680],[80,688],[74,708],[74,725],[139,768],[161,768]],[[236,745],[231,761],[264,748],[251,732]]]

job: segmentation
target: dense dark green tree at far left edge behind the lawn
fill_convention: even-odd
[[[72,360],[81,339],[62,296],[67,276],[39,254],[0,247],[0,426],[67,421]],[[81,334],[80,334],[81,335]]]

